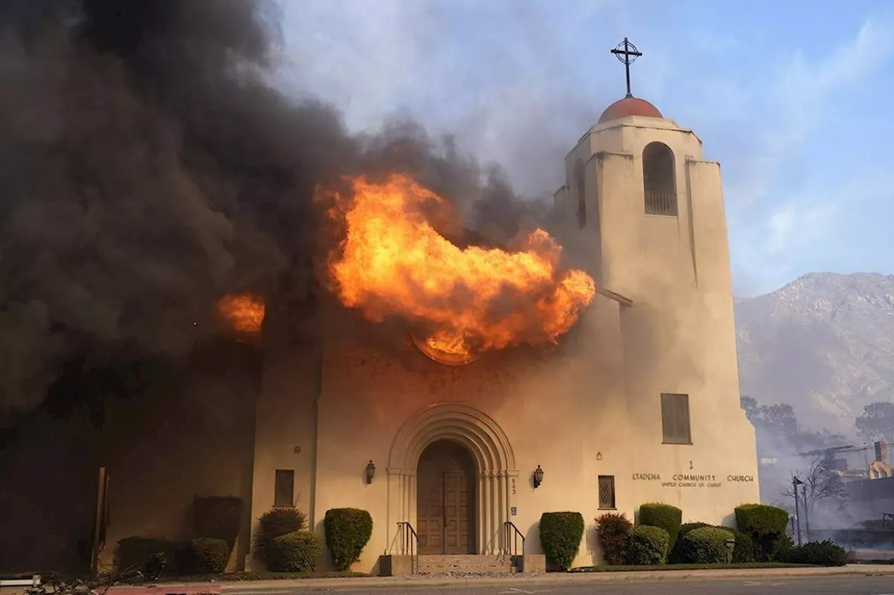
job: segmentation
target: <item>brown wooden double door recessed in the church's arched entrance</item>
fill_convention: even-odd
[[[417,467],[420,554],[475,554],[475,459],[459,442],[435,440]]]

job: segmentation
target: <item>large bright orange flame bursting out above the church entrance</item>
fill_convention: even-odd
[[[443,353],[472,355],[527,342],[556,342],[595,297],[586,272],[559,272],[561,247],[544,230],[523,251],[457,247],[426,213],[446,213],[442,197],[403,174],[376,184],[350,180],[353,196],[331,197],[329,215],[345,238],[329,273],[344,306],[373,322],[400,315],[426,329]]]

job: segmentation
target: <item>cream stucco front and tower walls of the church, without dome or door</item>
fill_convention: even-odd
[[[667,210],[672,197],[673,214],[644,207],[644,151],[655,142],[671,151],[672,191],[659,198]],[[321,535],[330,508],[370,512],[373,536],[354,568],[375,572],[397,553],[398,524],[419,526],[418,462],[437,440],[474,460],[467,516],[477,553],[506,551],[506,522],[539,552],[540,515],[577,511],[587,529],[575,564],[593,565],[603,512],[633,518],[657,501],[684,520],[732,524],[736,506],[759,501],[755,432],[739,406],[719,163],[675,122],[628,116],[587,130],[566,165],[557,236],[600,293],[550,353],[513,348],[451,366],[395,333],[296,343],[277,335],[268,309],[252,531],[274,506],[276,471],[289,470],[294,506]],[[320,318],[350,324],[353,315],[332,308]],[[685,415],[662,417],[662,394],[687,403]],[[600,477],[603,490],[613,485],[613,507],[600,507]],[[246,566],[258,566],[251,551]]]

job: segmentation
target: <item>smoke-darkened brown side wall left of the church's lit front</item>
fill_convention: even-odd
[[[197,496],[239,496],[245,506],[232,561],[248,551],[257,354],[215,346],[196,354],[176,381],[107,407],[109,481],[106,547],[111,566],[119,540],[195,537]]]

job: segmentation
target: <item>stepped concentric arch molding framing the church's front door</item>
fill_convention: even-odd
[[[417,520],[417,467],[422,451],[435,440],[453,440],[471,453],[477,467],[477,547],[482,554],[505,552],[503,524],[514,506],[519,471],[510,440],[498,423],[461,404],[428,406],[401,426],[388,456],[388,525]],[[400,535],[389,545],[399,554]]]

